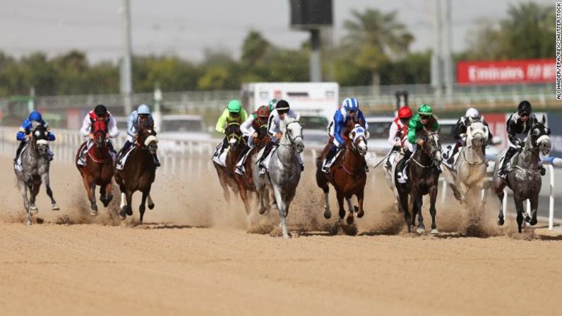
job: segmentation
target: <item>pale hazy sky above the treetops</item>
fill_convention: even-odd
[[[467,48],[475,21],[507,16],[521,0],[453,0],[453,51]],[[535,0],[550,5],[554,1]],[[80,49],[90,62],[115,62],[122,51],[121,0],[0,0],[0,50],[20,57],[37,50],[49,56]],[[411,50],[434,45],[435,0],[333,0],[333,41],[345,35],[343,21],[365,8],[398,11],[415,41]],[[200,62],[205,49],[239,57],[249,30],[286,48],[309,35],[289,28],[289,0],[131,0],[133,54],[177,55]],[[554,28],[554,21],[553,21]]]

